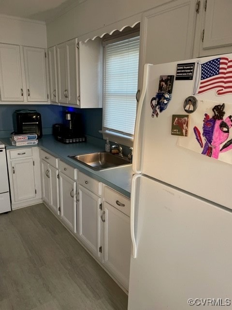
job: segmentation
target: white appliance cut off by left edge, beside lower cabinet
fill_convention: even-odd
[[[5,145],[0,142],[0,213],[11,211]]]

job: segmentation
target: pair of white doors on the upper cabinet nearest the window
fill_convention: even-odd
[[[79,94],[77,53],[77,39],[57,46],[59,103],[77,104],[77,94]]]

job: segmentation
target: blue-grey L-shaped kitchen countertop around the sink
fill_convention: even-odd
[[[6,149],[8,150],[33,147],[33,145],[20,147],[12,146],[10,139],[8,138],[2,138],[0,140],[5,144]],[[69,155],[102,152],[104,149],[102,149],[101,146],[89,142],[64,144],[55,140],[52,135],[44,135],[42,139],[39,139],[39,143],[35,146],[39,146],[42,150],[56,156],[68,165],[77,168],[79,171],[86,173],[88,176],[114,188],[116,191],[130,198],[132,165],[95,171],[68,157]]]

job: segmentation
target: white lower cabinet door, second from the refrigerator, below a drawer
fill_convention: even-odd
[[[78,237],[96,257],[101,257],[101,199],[81,185],[78,192]]]

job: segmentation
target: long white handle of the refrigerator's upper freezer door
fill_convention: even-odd
[[[139,150],[140,147],[138,147],[139,144],[139,130],[140,130],[140,123],[141,123],[141,113],[142,113],[142,107],[145,99],[145,94],[146,94],[146,88],[147,88],[147,81],[148,81],[148,71],[149,71],[149,66],[152,64],[146,63],[144,65],[144,78],[143,78],[143,88],[142,88],[142,93],[139,98],[139,103],[138,103],[138,109],[137,109],[137,115],[136,115],[136,121],[135,121],[135,128],[134,128],[134,143],[133,143],[133,162],[132,162],[132,169],[135,173],[141,173],[141,167],[138,161],[139,161]]]

